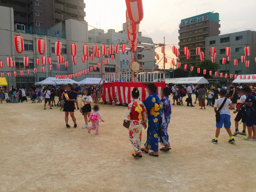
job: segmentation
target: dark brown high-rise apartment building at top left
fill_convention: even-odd
[[[17,30],[33,34],[38,34],[39,28],[40,32],[46,31],[71,17],[80,21],[84,21],[85,17],[84,0],[0,0],[0,6],[13,8]]]

